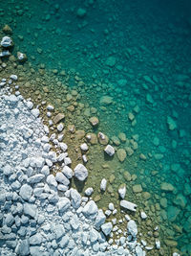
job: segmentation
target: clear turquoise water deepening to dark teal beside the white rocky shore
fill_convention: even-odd
[[[77,15],[79,8],[83,16]],[[43,63],[57,69],[57,76],[61,70],[77,74],[85,81],[77,89],[82,101],[96,107],[99,128],[109,137],[136,135],[138,153],[121,168],[138,176],[135,183],[143,191],[156,195],[151,203],[167,199],[160,207],[162,231],[189,255],[190,1],[3,0],[0,9],[1,27],[7,23],[13,30],[15,52],[25,52],[36,68]],[[76,87],[74,80],[71,87]],[[100,105],[105,95],[112,97],[111,105]],[[147,160],[139,159],[139,153]],[[173,192],[163,192],[162,182],[172,184]]]

